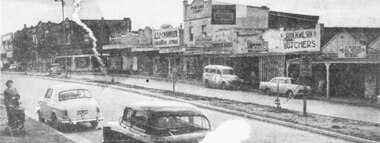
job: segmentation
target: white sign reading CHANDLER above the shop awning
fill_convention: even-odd
[[[179,29],[160,29],[153,31],[154,47],[179,46]]]

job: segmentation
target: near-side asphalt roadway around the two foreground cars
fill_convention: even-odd
[[[61,81],[38,79],[22,75],[6,75],[1,74],[1,90],[5,89],[5,82],[8,79],[14,81],[14,86],[18,89],[21,94],[21,102],[23,106],[29,113],[32,113],[32,117],[36,118],[35,107],[37,105],[37,100],[42,98],[46,92],[46,89],[55,84],[63,83]],[[135,101],[143,100],[160,100],[152,97],[147,97],[144,95],[129,93],[120,90],[114,90],[107,87],[101,86],[90,86],[87,87],[92,92],[92,96],[98,101],[100,105],[101,113],[104,117],[104,121],[99,123],[99,127],[103,126],[107,121],[118,120],[122,115],[123,107]],[[225,113],[215,112],[211,110],[202,109],[205,114],[209,117],[212,130],[220,127],[221,125],[226,125],[229,121],[240,121],[227,123],[230,126],[228,130],[218,136],[219,141],[226,141],[225,139],[231,137],[239,137],[244,135],[244,130],[247,130],[248,139],[243,142],[347,142],[345,140],[336,139],[332,137],[323,136],[320,134],[315,134],[307,131],[297,130],[293,128],[288,128],[284,126],[269,124],[261,121],[250,120],[241,118],[238,116],[233,116]],[[246,125],[246,126],[241,126]],[[65,135],[69,138],[77,140],[79,142],[101,142],[102,130],[89,129],[87,125],[77,125],[70,129],[63,131]]]

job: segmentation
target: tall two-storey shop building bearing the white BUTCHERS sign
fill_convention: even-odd
[[[183,71],[188,77],[200,79],[204,66],[219,64],[233,67],[243,79],[268,81],[285,76],[286,60],[303,55],[300,53],[320,52],[318,19],[270,11],[267,7],[213,0],[194,0],[189,4],[184,0]],[[297,35],[292,37],[294,34]],[[312,37],[298,37],[300,34]],[[314,40],[305,42],[305,46],[312,45],[313,49],[289,48],[291,41],[302,40]],[[289,45],[284,46],[284,42]]]

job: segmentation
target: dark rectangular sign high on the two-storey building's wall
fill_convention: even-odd
[[[213,5],[211,24],[236,24],[235,5]]]

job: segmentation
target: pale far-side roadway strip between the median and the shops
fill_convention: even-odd
[[[46,75],[46,74],[45,74]],[[72,73],[73,79],[88,79],[97,81],[114,81],[132,86],[141,86],[146,88],[173,90],[171,79],[148,77],[148,76],[130,76],[121,74],[110,74],[104,76],[101,73]],[[217,97],[222,99],[234,100],[246,103],[255,103],[267,106],[276,106],[274,101],[276,97],[264,95],[257,90],[251,91],[230,91],[221,89],[205,88],[202,83],[197,81],[180,80],[175,84],[175,91],[193,94],[204,97]],[[280,97],[281,107],[295,111],[303,111],[302,99],[288,100]],[[380,104],[359,99],[333,98],[331,100],[309,99],[307,101],[307,112],[346,118],[352,120],[380,123]]]

